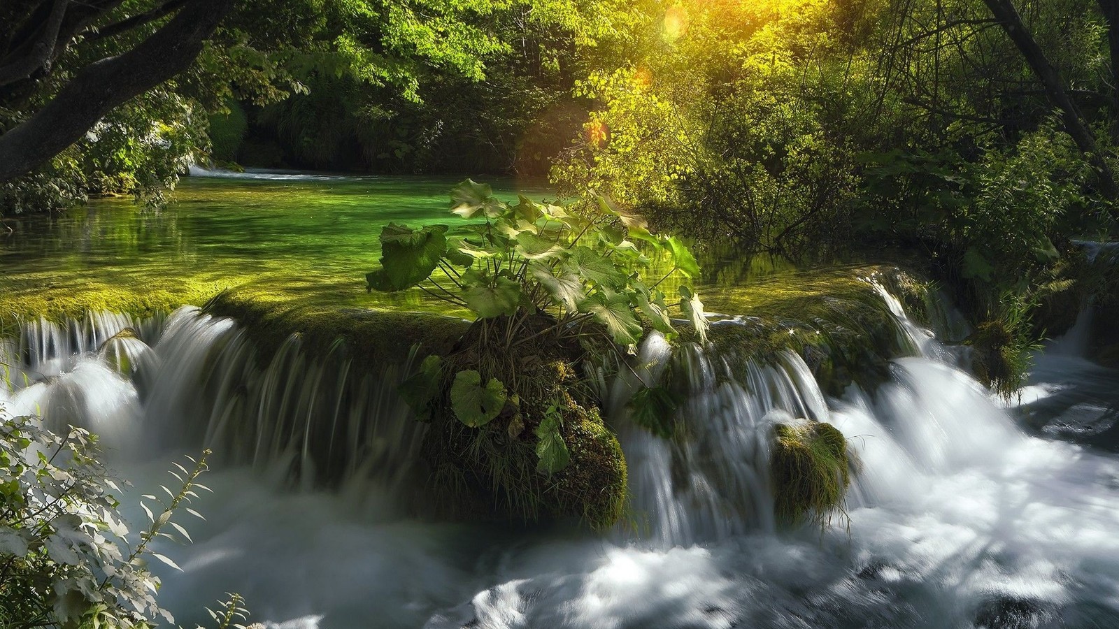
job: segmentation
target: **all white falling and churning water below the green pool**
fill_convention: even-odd
[[[422,426],[395,372],[311,360],[295,340],[262,365],[194,309],[28,325],[0,348],[19,367],[0,401],[102,433],[138,494],[173,457],[216,451],[195,544],[162,550],[182,572],[162,573],[160,600],[184,625],[237,591],[289,629],[1119,627],[1119,458],[1027,434],[887,303],[916,355],[873,393],[829,398],[792,353],[742,365],[692,348],[675,358],[690,439],[674,444],[626,423],[633,383],[614,383],[632,513],[605,535],[410,516]],[[668,351],[647,342],[642,376]],[[1023,409],[1075,388],[1062,360],[1080,359],[1041,357]],[[773,522],[768,434],[796,417],[834,423],[859,461],[825,532]]]

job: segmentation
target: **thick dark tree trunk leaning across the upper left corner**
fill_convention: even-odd
[[[79,140],[114,107],[182,72],[236,0],[190,0],[132,50],[82,69],[46,106],[0,135],[0,182]]]

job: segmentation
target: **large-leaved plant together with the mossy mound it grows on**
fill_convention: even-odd
[[[585,215],[525,197],[510,205],[471,180],[451,197],[462,223],[388,225],[380,266],[366,275],[369,290],[419,287],[477,316],[451,353],[401,385],[434,424],[426,451],[439,485],[481,488],[525,519],[551,511],[609,525],[621,513],[624,461],[601,460],[621,450],[576,372],[621,366],[646,328],[677,335],[674,311],[705,340],[699,297],[683,285],[669,306],[659,288],[695,278],[695,257],[605,198]],[[612,497],[586,495],[608,488]]]

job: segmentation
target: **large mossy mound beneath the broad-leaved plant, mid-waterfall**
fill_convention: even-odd
[[[444,511],[521,522],[577,518],[596,529],[613,525],[626,505],[626,458],[593,396],[580,385],[571,356],[576,347],[538,344],[513,357],[473,342],[477,330],[446,357],[446,379],[460,369],[478,369],[483,379],[501,381],[517,402],[510,395],[497,419],[469,428],[454,417],[444,382],[423,448]],[[549,410],[560,415],[571,456],[554,475],[538,469],[536,453],[536,429]]]

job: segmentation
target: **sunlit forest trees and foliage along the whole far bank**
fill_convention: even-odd
[[[88,73],[189,11],[213,24],[187,34],[181,72],[4,171],[0,209],[158,204],[190,163],[549,175],[565,196],[605,194],[704,241],[792,259],[895,243],[997,284],[1115,231],[1115,4],[10,3],[7,163],[51,103],[88,101],[74,93]]]

